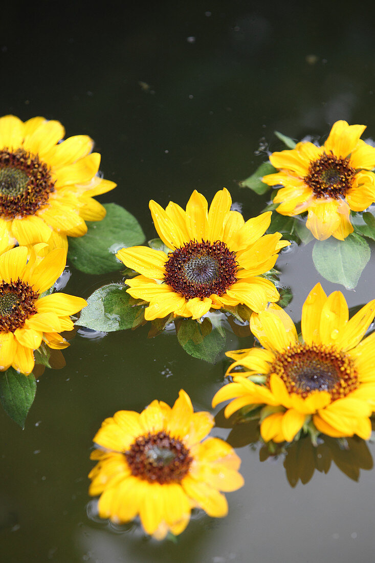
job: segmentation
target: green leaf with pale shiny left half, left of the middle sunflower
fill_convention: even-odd
[[[101,332],[133,328],[143,309],[133,305],[133,298],[123,284],[109,284],[97,289],[87,300],[87,307],[75,323]],[[143,314],[141,315],[144,319]]]

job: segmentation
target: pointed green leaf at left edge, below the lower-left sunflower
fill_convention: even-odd
[[[0,401],[5,412],[23,429],[33,404],[37,383],[30,373],[24,376],[13,368],[0,374]]]

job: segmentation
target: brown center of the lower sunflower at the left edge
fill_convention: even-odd
[[[0,284],[0,332],[14,332],[25,320],[35,315],[39,294],[20,278]]]

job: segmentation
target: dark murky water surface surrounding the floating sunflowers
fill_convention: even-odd
[[[101,202],[126,207],[148,239],[155,236],[149,199],[185,205],[195,188],[210,200],[226,186],[248,218],[265,199],[237,182],[267,149],[282,148],[275,129],[320,136],[346,119],[375,137],[372,16],[323,2],[13,3],[2,13],[9,25],[0,45],[0,113],[44,115],[68,136],[91,135],[104,176],[118,183]],[[316,282],[327,293],[342,289],[319,278],[311,245],[283,254],[278,267],[293,290],[287,310],[295,321]],[[349,306],[374,297],[373,278],[369,263],[356,291],[343,291]],[[117,279],[72,269],[65,291],[87,297]],[[91,440],[102,419],[155,398],[172,404],[181,387],[196,409],[209,410],[222,383],[223,361],[195,360],[172,334],[148,339],[147,332],[77,335],[66,367],[41,377],[25,430],[0,412],[2,560],[372,560],[373,471],[355,482],[333,464],[328,475],[315,471],[291,488],[282,458],[260,462],[249,446],[238,449],[245,486],[227,495],[229,516],[198,515],[177,544],[87,516]],[[228,338],[228,349],[239,346],[250,339]]]

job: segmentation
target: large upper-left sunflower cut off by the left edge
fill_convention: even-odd
[[[68,248],[66,236],[82,236],[85,221],[100,221],[105,209],[93,195],[115,187],[97,175],[100,154],[87,135],[60,142],[58,121],[15,115],[0,118],[0,252],[48,242]]]

